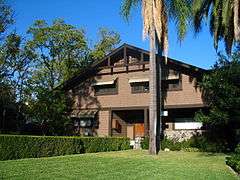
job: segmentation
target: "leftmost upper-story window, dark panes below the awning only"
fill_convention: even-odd
[[[117,82],[113,84],[94,86],[95,95],[114,95],[118,93]]]

